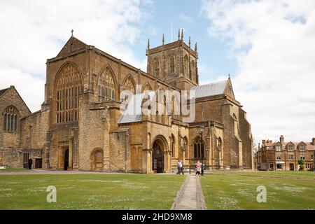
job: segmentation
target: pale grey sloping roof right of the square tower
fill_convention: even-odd
[[[195,90],[195,98],[210,97],[218,94],[224,94],[224,90],[227,84],[228,80],[224,80],[216,83],[195,86],[191,90]]]

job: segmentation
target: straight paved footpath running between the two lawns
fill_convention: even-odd
[[[188,174],[174,200],[172,210],[204,210],[204,195],[200,186],[199,176]]]

